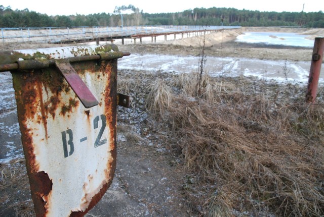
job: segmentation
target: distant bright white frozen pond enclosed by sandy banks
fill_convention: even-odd
[[[237,42],[264,43],[272,45],[313,47],[314,40],[307,39],[309,35],[286,32],[245,32],[236,37]]]

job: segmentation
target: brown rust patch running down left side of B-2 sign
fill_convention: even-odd
[[[46,202],[43,198],[50,193],[53,183],[48,174],[39,172],[32,132],[43,126],[45,135],[42,136],[45,138],[43,137],[41,140],[48,140],[48,116],[50,114],[53,119],[55,118],[55,111],[61,102],[62,86],[58,84],[62,85],[63,79],[59,77],[58,73],[51,75],[51,71],[49,69],[44,72],[42,70],[12,72],[27,174],[35,211],[39,216],[46,215]],[[51,97],[46,98],[49,94]],[[75,100],[69,100],[69,107],[77,105],[78,102]],[[34,120],[34,124],[30,125],[32,120]]]

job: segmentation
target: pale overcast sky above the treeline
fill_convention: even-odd
[[[97,14],[113,13],[116,6],[134,5],[143,10],[144,13],[169,13],[182,12],[194,8],[236,8],[258,11],[276,12],[301,12],[305,3],[304,12],[324,11],[324,3],[321,0],[117,0],[117,1],[74,1],[74,0],[1,0],[0,5],[10,6],[13,10],[29,9],[37,13],[51,15],[75,15],[75,14]]]

